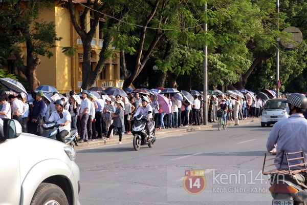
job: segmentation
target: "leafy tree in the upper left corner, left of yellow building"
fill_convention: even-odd
[[[4,56],[13,53],[16,65],[28,79],[29,90],[34,91],[40,84],[36,78],[36,69],[40,64],[41,56],[51,57],[53,53],[50,48],[55,47],[55,41],[60,40],[55,32],[54,22],[43,22],[39,15],[45,8],[52,8],[54,1],[30,0],[21,3],[16,0],[3,2],[0,10],[0,36],[4,37],[4,47],[8,51],[3,52]],[[26,62],[21,59],[17,44],[26,44]],[[0,50],[1,51],[1,50]]]

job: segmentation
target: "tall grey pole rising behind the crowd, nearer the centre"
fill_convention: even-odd
[[[207,2],[204,6],[204,11],[207,12]],[[206,14],[206,22],[204,24],[204,31],[207,32],[207,14]],[[204,69],[204,105],[203,105],[203,113],[204,113],[204,125],[208,124],[208,47],[207,47],[207,41],[206,45],[203,48],[204,52],[204,60],[203,60],[203,69]]]

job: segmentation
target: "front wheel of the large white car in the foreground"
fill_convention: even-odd
[[[52,183],[40,183],[30,205],[69,205],[63,190]]]

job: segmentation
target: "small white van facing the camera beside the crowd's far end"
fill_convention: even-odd
[[[266,102],[261,115],[261,127],[273,125],[289,117],[286,112],[287,103],[281,103],[282,100],[284,99],[269,99]]]

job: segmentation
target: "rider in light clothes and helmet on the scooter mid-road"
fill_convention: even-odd
[[[148,113],[150,111],[150,113]],[[150,127],[152,126],[152,107],[149,104],[149,99],[147,97],[142,98],[142,106],[140,106],[137,110],[137,112],[134,114],[134,117],[138,115],[143,115],[147,117],[148,121],[146,122],[146,133],[148,136],[147,141],[151,141],[151,135],[150,135]]]

